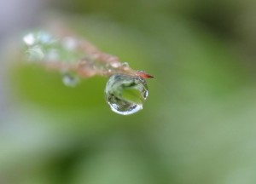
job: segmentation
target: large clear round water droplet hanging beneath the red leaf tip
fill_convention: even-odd
[[[108,79],[105,95],[113,112],[129,115],[143,109],[148,86],[143,78],[116,74]]]

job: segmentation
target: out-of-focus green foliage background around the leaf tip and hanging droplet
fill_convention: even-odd
[[[55,1],[79,36],[153,75],[142,112],[38,66],[9,68],[2,184],[256,183],[254,1]],[[60,13],[61,10],[61,13]]]

